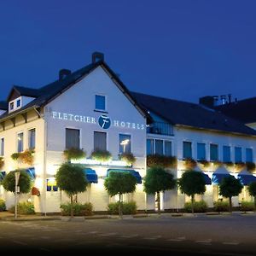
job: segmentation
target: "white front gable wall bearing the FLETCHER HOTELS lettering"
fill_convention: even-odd
[[[96,94],[106,96],[107,113],[95,110]],[[66,114],[73,114],[73,118],[68,119]],[[98,125],[98,119],[102,114],[108,115],[111,119],[111,126],[108,129],[102,129]],[[64,161],[62,152],[65,149],[66,128],[80,130],[80,147],[84,148],[87,157],[90,157],[94,148],[94,131],[107,132],[107,149],[113,155],[113,160],[118,160],[119,134],[131,135],[131,152],[137,157],[132,168],[140,172],[142,177],[145,175],[146,119],[113,83],[102,67],[96,68],[87,77],[56,97],[54,101],[49,102],[45,107],[45,119],[47,120],[48,178],[55,175]],[[92,183],[90,191],[79,195],[78,199],[91,201],[96,211],[106,211],[110,199],[103,187],[103,182],[110,166],[90,167],[96,170],[99,177],[98,183]],[[47,212],[60,212],[60,201],[68,200],[64,193],[47,192]],[[137,185],[134,200],[137,201],[139,209],[145,208],[145,195],[141,184]]]

